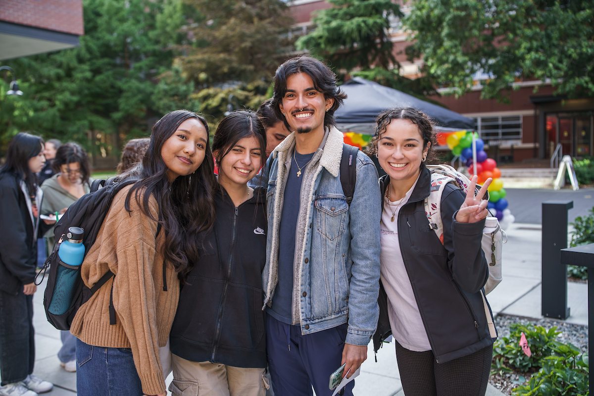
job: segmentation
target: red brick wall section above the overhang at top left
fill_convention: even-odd
[[[82,0],[2,0],[0,4],[2,21],[84,34]]]

